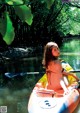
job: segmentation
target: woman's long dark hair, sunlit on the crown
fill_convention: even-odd
[[[42,64],[45,68],[47,68],[48,62],[58,59],[57,57],[52,55],[52,48],[53,47],[58,47],[58,45],[55,42],[48,42],[46,44],[46,46],[44,47]]]

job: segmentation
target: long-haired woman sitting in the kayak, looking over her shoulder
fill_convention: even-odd
[[[59,60],[60,50],[55,42],[48,42],[44,49],[42,64],[45,67],[48,89],[52,89],[55,92],[66,92],[68,93],[68,81],[63,79],[63,75],[69,73],[64,72],[61,61]]]

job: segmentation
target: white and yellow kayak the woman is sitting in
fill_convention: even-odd
[[[73,68],[62,61],[62,66],[68,71]],[[69,75],[69,93],[54,92],[47,89],[47,76],[44,74],[36,83],[28,102],[29,113],[80,113],[80,92],[77,89],[77,81]],[[73,84],[73,85],[72,85]],[[75,112],[76,111],[76,112]]]

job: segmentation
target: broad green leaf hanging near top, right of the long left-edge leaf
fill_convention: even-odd
[[[33,22],[33,15],[31,13],[31,10],[26,5],[21,6],[14,6],[16,14],[19,16],[19,18],[26,22],[27,24],[31,25]]]

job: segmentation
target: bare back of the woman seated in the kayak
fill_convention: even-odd
[[[46,69],[48,79],[48,89],[62,89],[60,80],[62,79],[62,66],[59,60],[51,61]]]

